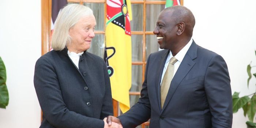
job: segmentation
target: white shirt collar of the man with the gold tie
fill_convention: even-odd
[[[182,60],[184,59],[185,54],[188,52],[188,49],[189,49],[189,47],[191,46],[192,42],[193,42],[193,39],[191,38],[190,41],[188,42],[188,44],[185,45],[185,46],[180,50],[180,52],[178,52],[178,53],[176,54],[175,58],[176,58],[180,63],[181,63]],[[172,52],[170,51],[170,53],[169,53],[169,55],[168,55],[168,58],[167,58],[167,59],[168,59],[168,63],[169,63],[169,60],[170,60],[172,57],[173,57],[173,54],[172,54]]]

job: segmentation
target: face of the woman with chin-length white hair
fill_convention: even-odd
[[[83,52],[90,48],[94,35],[96,20],[94,15],[81,18],[74,27],[69,29],[71,43],[67,45],[70,52]]]

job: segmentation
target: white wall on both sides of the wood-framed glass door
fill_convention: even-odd
[[[193,39],[227,62],[232,93],[255,91],[246,86],[246,66],[256,65],[256,1],[184,0],[196,18]],[[0,109],[0,128],[38,128],[40,106],[33,85],[34,64],[41,56],[41,1],[1,0],[0,56],[7,69],[10,101]],[[256,72],[256,69],[254,69]],[[247,117],[234,114],[233,128],[246,128]]]

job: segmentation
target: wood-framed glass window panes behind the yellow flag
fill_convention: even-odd
[[[50,1],[50,0],[49,0]],[[75,2],[74,2],[75,1]],[[87,1],[87,0],[83,0]],[[96,54],[103,58],[105,50],[105,16],[106,0],[89,0],[83,3],[82,0],[68,0],[68,4],[83,4],[93,10],[97,26],[95,27],[95,37],[91,42],[91,48],[88,52]],[[132,0],[132,21],[131,21],[131,39],[132,39],[132,85],[129,91],[137,92],[136,95],[130,95],[130,106],[134,105],[142,89],[142,80],[146,61],[149,54],[157,52],[159,44],[156,35],[151,34],[155,28],[159,13],[165,8],[166,0]],[[183,0],[180,0],[183,3]],[[146,3],[146,6],[144,6]],[[45,16],[47,17],[47,16]],[[42,16],[42,18],[45,18]],[[49,17],[49,16],[48,16]],[[143,21],[146,19],[146,21]],[[146,23],[146,24],[145,24]],[[45,30],[46,31],[46,30]],[[48,32],[49,33],[49,32]],[[42,41],[43,45],[46,41]],[[48,42],[49,43],[49,42]],[[47,48],[47,47],[44,47]],[[43,51],[46,51],[43,49]],[[116,105],[116,104],[115,104]],[[116,106],[114,108],[117,108]],[[114,110],[115,112],[118,110]],[[119,110],[120,111],[120,110]],[[120,112],[120,114],[122,114]],[[136,128],[141,128],[138,126]],[[148,128],[148,126],[145,126]]]

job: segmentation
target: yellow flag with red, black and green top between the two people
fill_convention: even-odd
[[[131,28],[130,0],[107,0],[106,48],[104,59],[108,66],[112,97],[125,113],[130,108],[131,88]]]

